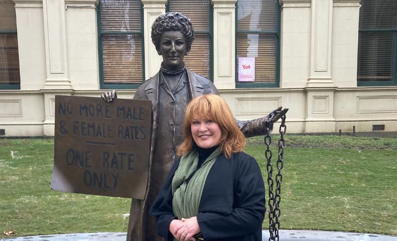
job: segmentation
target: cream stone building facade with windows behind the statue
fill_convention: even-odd
[[[119,98],[132,98],[161,63],[151,23],[186,6],[197,33],[187,66],[213,80],[236,119],[282,105],[290,109],[288,133],[352,132],[353,126],[356,132],[397,131],[396,1],[383,0],[392,19],[375,25],[388,17],[382,10],[367,19],[381,0],[3,2],[3,137],[53,136],[55,95],[99,97],[115,88]],[[255,76],[242,81],[239,66],[247,63]],[[366,68],[378,72],[366,74]]]

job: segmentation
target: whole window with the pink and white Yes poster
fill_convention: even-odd
[[[278,0],[238,0],[236,87],[278,87]]]

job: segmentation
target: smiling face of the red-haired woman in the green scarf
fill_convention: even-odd
[[[213,120],[195,115],[190,123],[192,136],[201,148],[210,148],[221,142],[222,131]]]

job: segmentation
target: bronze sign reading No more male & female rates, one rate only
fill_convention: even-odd
[[[51,189],[144,199],[151,103],[55,96]]]

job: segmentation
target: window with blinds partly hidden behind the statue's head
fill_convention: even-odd
[[[212,79],[212,5],[210,0],[169,0],[167,12],[180,12],[193,23],[195,39],[186,66]]]

